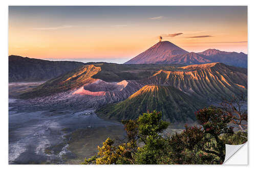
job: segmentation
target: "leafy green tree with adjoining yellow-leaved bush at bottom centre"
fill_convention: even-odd
[[[114,140],[108,138],[98,147],[98,155],[84,159],[82,164],[157,164],[166,152],[166,140],[161,133],[168,123],[161,120],[161,112],[144,113],[136,120],[122,121],[127,134],[127,142],[115,147]],[[137,147],[138,139],[144,143]]]

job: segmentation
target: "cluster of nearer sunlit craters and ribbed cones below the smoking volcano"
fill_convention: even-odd
[[[100,117],[117,120],[156,109],[170,122],[191,122],[197,109],[241,92],[247,93],[247,69],[222,63],[95,63],[51,79],[20,98],[34,106],[97,109]]]

